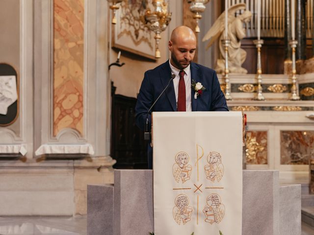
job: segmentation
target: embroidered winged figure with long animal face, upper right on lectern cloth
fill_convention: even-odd
[[[217,152],[209,152],[207,156],[207,162],[209,165],[204,166],[206,178],[214,182],[221,180],[224,175],[224,165],[221,163],[221,155]]]

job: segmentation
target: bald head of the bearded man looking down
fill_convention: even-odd
[[[170,37],[170,63],[183,70],[192,62],[196,50],[196,37],[192,29],[186,26],[176,27]]]

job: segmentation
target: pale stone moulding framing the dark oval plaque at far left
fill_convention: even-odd
[[[19,118],[20,133],[11,130],[10,126],[0,128],[0,143],[8,148],[21,144],[32,156],[32,111],[33,111],[33,1],[20,1],[20,71],[19,76]],[[22,146],[21,145],[21,146]],[[27,146],[27,147],[26,147]],[[3,146],[2,146],[3,147]],[[3,150],[4,151],[4,150]],[[4,152],[1,152],[4,153]],[[12,151],[11,151],[12,152]],[[7,153],[11,153],[10,150]],[[12,152],[13,153],[13,152]],[[23,153],[26,154],[25,151]]]

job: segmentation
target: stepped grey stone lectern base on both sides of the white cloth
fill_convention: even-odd
[[[88,235],[154,231],[153,171],[115,170],[112,185],[88,185]],[[243,170],[242,235],[301,235],[301,185],[276,170]],[[232,226],[232,225],[230,225]]]

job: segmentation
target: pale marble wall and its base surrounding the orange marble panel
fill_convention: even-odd
[[[26,158],[0,154],[0,215],[86,214],[86,186],[113,183],[110,154],[108,3],[85,0],[83,137],[67,129],[52,136],[52,0],[20,1],[21,135],[0,129],[0,144],[23,144]],[[34,60],[33,60],[34,58]],[[69,144],[89,144],[94,154],[76,155]],[[48,145],[58,159],[36,155]],[[62,149],[67,149],[67,153]],[[78,148],[73,148],[78,149]],[[71,152],[72,151],[72,152]]]

